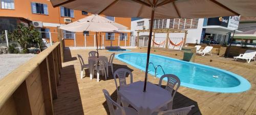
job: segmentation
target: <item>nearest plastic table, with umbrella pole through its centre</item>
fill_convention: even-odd
[[[139,115],[152,114],[172,99],[169,91],[151,82],[147,82],[146,92],[143,92],[143,86],[144,82],[137,81],[120,87],[118,91],[120,96],[138,111]]]

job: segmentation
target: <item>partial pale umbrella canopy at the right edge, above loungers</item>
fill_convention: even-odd
[[[234,34],[234,39],[256,39],[256,29]]]

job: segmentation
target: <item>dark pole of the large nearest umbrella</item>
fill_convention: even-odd
[[[153,3],[155,3],[155,2],[153,2]],[[144,89],[143,89],[144,92],[146,92],[147,72],[148,72],[148,63],[150,61],[150,48],[151,48],[154,15],[155,15],[155,9],[153,8],[152,12],[151,12],[150,36],[148,38],[148,45],[147,45],[146,72],[145,72]]]

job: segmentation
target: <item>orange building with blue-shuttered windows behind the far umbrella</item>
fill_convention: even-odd
[[[41,32],[41,37],[56,42],[57,27],[69,24],[83,17],[91,15],[86,11],[53,8],[49,0],[0,0],[0,31],[13,30],[15,25],[22,22],[33,25]],[[103,15],[102,15],[103,16]],[[101,46],[130,46],[131,18],[105,16],[121,25],[128,27],[121,33],[101,33],[98,44]],[[11,26],[11,27],[10,27]],[[100,27],[99,27],[100,28]],[[2,32],[1,32],[2,33]],[[86,36],[84,36],[86,35]],[[66,47],[95,47],[95,32],[62,31]]]

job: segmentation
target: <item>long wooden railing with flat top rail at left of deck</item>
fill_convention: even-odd
[[[0,80],[0,115],[52,115],[62,47],[54,43]]]

